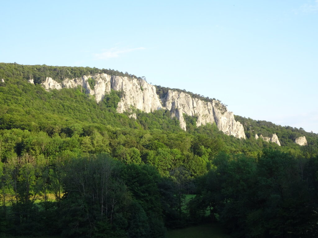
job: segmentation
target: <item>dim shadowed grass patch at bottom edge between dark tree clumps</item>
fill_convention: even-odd
[[[167,235],[168,238],[230,238],[218,226],[211,224],[169,230]]]

